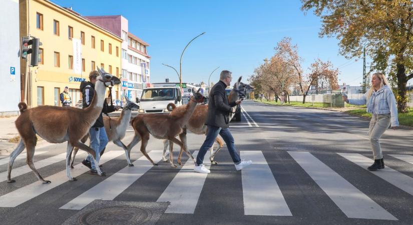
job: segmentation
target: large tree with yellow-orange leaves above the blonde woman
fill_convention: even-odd
[[[407,111],[406,83],[413,78],[411,0],[301,0],[322,19],[320,36],[336,35],[340,53],[360,57],[363,47],[373,68],[388,71],[396,84],[398,110]]]

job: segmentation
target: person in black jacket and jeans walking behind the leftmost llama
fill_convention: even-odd
[[[82,91],[83,95],[83,108],[86,108],[92,102],[93,96],[95,95],[95,83],[96,78],[99,76],[99,72],[97,70],[90,72],[89,80],[90,81],[82,81],[80,84],[80,90]],[[108,105],[108,99],[106,99],[103,103],[102,112],[109,113],[115,110],[118,110],[120,106],[113,106]],[[90,136],[90,146],[96,152],[96,161],[99,163],[101,151],[106,147],[108,144],[108,135],[106,134],[104,123],[103,123],[103,116],[102,113],[99,115],[98,119],[96,120],[95,124],[89,129],[89,136]],[[82,161],[82,164],[89,167],[91,169],[92,174],[98,174],[96,171],[95,162],[92,160],[92,155],[89,154],[85,160]],[[104,171],[101,169],[104,173]]]

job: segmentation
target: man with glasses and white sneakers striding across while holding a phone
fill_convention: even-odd
[[[235,164],[235,169],[240,170],[243,167],[251,164],[251,160],[244,160],[239,157],[238,152],[235,149],[234,137],[228,128],[228,123],[230,120],[230,113],[235,113],[237,104],[241,103],[241,100],[236,100],[228,102],[228,97],[225,92],[227,85],[231,84],[232,72],[228,70],[222,70],[219,82],[217,82],[210,92],[209,102],[208,102],[208,117],[207,126],[208,132],[204,143],[199,149],[198,155],[196,157],[196,163],[194,167],[195,172],[200,173],[210,173],[203,163],[204,156],[206,152],[212,147],[216,137],[221,135],[227,144],[229,154],[231,155],[232,161]]]

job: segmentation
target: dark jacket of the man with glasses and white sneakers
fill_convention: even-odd
[[[232,107],[236,104],[235,101],[228,102],[225,87],[227,87],[227,85],[220,80],[211,88],[208,102],[207,125],[228,128],[229,113],[232,112]]]

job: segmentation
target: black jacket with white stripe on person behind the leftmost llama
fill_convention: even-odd
[[[89,107],[90,103],[92,102],[93,96],[95,95],[95,84],[91,83],[90,81],[82,81],[80,83],[80,90],[82,91],[82,103],[83,108]],[[106,103],[106,100],[103,102],[103,113],[109,113],[115,111],[115,106],[110,106]],[[95,124],[92,127],[103,127],[103,116],[102,113],[99,115],[98,119],[96,120]]]

